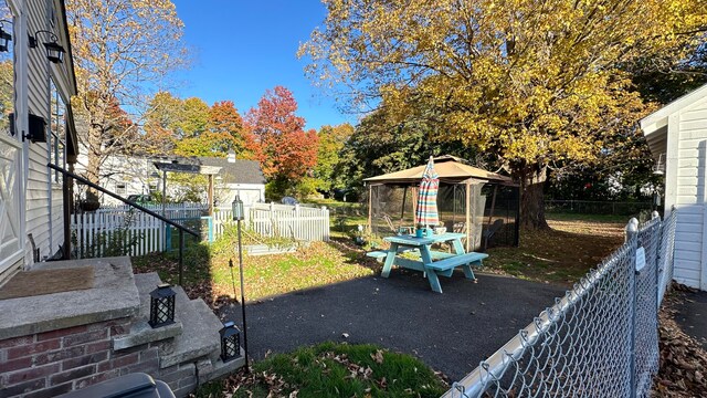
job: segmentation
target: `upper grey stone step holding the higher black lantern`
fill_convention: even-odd
[[[140,296],[140,311],[130,326],[130,333],[113,339],[113,349],[122,350],[140,344],[160,342],[179,336],[182,333],[182,324],[177,320],[171,325],[157,328],[152,328],[148,323],[150,318],[150,292],[160,283],[161,281],[156,272],[135,274],[135,285]],[[178,312],[177,308],[175,311]]]

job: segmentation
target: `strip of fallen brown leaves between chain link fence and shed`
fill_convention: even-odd
[[[690,287],[673,284],[658,313],[661,369],[653,380],[656,397],[707,397],[707,352],[675,322],[676,307]]]

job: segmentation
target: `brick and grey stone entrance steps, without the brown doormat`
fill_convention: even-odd
[[[202,300],[173,287],[175,324],[148,324],[156,273],[136,274],[129,258],[42,263],[52,269],[93,266],[88,290],[0,301],[0,397],[50,397],[131,373],[163,380],[177,397],[236,370],[223,363],[223,326]],[[32,308],[33,311],[27,311]],[[34,311],[36,310],[36,311]]]

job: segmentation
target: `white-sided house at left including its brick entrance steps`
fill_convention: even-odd
[[[173,320],[152,312],[160,277],[134,274],[129,258],[43,261],[68,243],[62,182],[78,155],[66,12],[63,0],[0,0],[0,397],[131,373],[183,397],[242,366],[221,359],[223,324],[202,300],[175,286]],[[152,314],[168,322],[152,327]]]

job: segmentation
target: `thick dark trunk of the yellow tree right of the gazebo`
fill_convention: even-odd
[[[525,229],[547,229],[542,190],[547,180],[547,167],[529,167],[519,174],[520,180],[520,227]]]

